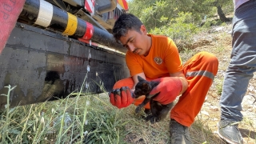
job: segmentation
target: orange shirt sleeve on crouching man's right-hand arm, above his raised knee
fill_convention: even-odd
[[[175,45],[174,41],[170,38],[168,39],[168,46],[166,50],[164,50],[165,58],[164,61],[166,62],[166,68],[170,74],[177,73],[178,71],[183,70],[182,66],[182,59],[178,54],[178,48]]]

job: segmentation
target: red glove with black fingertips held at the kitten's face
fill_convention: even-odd
[[[118,109],[130,106],[134,102],[133,92],[127,86],[115,89],[110,92],[110,103]]]

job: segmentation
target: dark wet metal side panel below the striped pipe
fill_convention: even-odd
[[[0,54],[0,94],[7,94],[4,86],[17,86],[11,106],[66,98],[80,90],[86,74],[89,87],[84,90],[101,93],[95,82],[111,90],[129,71],[122,54],[22,23],[16,24]],[[4,105],[6,97],[0,96],[0,108]]]

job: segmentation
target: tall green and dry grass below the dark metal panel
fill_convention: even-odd
[[[169,117],[152,125],[142,119],[144,112],[135,114],[134,109],[118,110],[107,94],[78,93],[74,98],[14,108],[7,104],[0,118],[0,143],[170,142]],[[202,126],[190,130],[201,131]]]

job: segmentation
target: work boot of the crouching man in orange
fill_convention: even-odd
[[[189,128],[179,124],[174,119],[170,119],[170,141],[171,144],[192,143]]]

